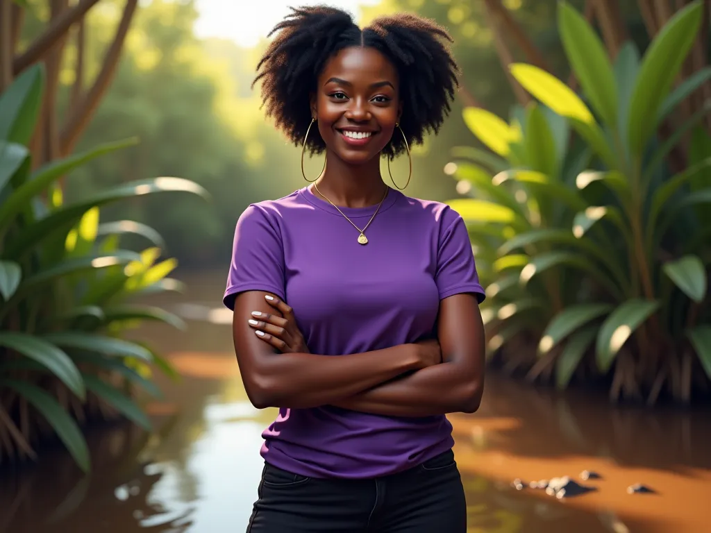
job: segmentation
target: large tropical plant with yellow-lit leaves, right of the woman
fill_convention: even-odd
[[[445,170],[492,201],[453,205],[474,244],[484,243],[478,252],[497,332],[490,348],[506,352],[523,339],[511,351],[528,353],[531,377],[555,368],[566,387],[594,354],[597,374],[614,367],[612,399],[646,394],[653,403],[666,384],[688,402],[694,383],[707,386],[711,230],[702,206],[711,202],[711,139],[697,125],[711,102],[670,136],[658,135],[711,79],[703,68],[672,90],[701,15],[702,2],[692,2],[643,58],[628,42],[613,64],[584,17],[561,3],[559,31],[584,99],[550,73],[516,63],[515,80],[547,109],[531,104],[511,124],[481,109],[464,112],[493,154],[458,148],[456,158],[476,164]],[[670,175],[668,154],[690,131],[690,165]],[[537,350],[525,350],[530,340]]]

